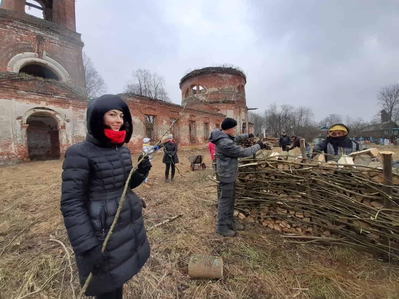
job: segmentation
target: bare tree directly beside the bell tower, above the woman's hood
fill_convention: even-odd
[[[85,83],[87,90],[87,98],[91,100],[105,93],[107,85],[105,85],[103,77],[97,72],[91,59],[83,52],[83,69],[85,70]]]

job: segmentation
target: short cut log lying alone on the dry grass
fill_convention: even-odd
[[[223,277],[223,260],[218,256],[193,254],[188,262],[188,276],[221,279]]]

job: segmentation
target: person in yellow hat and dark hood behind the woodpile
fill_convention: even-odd
[[[312,158],[318,153],[326,153],[326,162],[338,161],[342,155],[359,150],[358,142],[348,137],[349,128],[344,124],[333,124],[328,128],[328,136],[314,146]]]

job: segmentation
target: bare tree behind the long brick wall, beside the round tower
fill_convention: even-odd
[[[148,69],[138,69],[133,72],[132,76],[133,80],[126,85],[125,92],[171,102],[164,87],[164,76],[151,73]]]

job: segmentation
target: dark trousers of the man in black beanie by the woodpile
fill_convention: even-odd
[[[232,183],[220,182],[220,197],[217,207],[216,229],[223,232],[227,229],[227,224],[233,222],[234,202],[235,202],[235,181]]]

